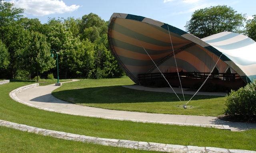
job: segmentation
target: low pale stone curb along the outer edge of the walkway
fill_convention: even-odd
[[[131,121],[131,122],[142,122],[142,123],[152,123],[152,124],[168,124],[168,125],[177,125],[177,126],[197,126],[197,127],[203,127],[203,128],[216,128],[216,129],[226,129],[230,130],[231,128],[228,125],[215,125],[215,124],[188,124],[188,123],[174,123],[174,122],[157,122],[157,121],[147,121],[147,120],[134,120],[134,119],[124,119],[124,118],[113,118],[113,117],[102,117],[102,116],[95,116],[95,115],[81,115],[81,114],[75,114],[75,113],[68,113],[68,112],[63,112],[63,111],[57,111],[57,110],[52,110],[49,108],[42,108],[40,106],[36,106],[33,104],[29,104],[27,102],[24,102],[20,100],[16,95],[24,90],[27,90],[29,88],[34,88],[39,86],[38,83],[34,84],[29,84],[26,86],[21,86],[20,88],[14,89],[10,92],[9,96],[15,100],[16,102],[19,102],[21,104],[37,108],[40,110],[46,110],[50,112],[56,112],[56,113],[62,113],[62,114],[69,114],[69,115],[76,115],[76,116],[84,116],[84,117],[92,117],[92,118],[103,118],[103,119],[108,119],[108,120],[119,120],[119,121]]]

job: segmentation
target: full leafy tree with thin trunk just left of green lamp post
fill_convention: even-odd
[[[37,81],[39,72],[55,67],[55,61],[50,55],[50,44],[47,43],[46,36],[32,31],[29,44],[22,54],[22,62],[30,74],[37,74]]]

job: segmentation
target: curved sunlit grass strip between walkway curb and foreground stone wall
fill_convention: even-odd
[[[106,79],[106,81],[104,82],[108,81],[111,80]],[[117,81],[115,82],[118,83]],[[12,90],[31,83],[34,82],[11,80],[10,83],[2,84],[0,86],[1,120],[15,122],[19,124],[26,124],[28,126],[34,126],[37,128],[64,131],[68,133],[88,135],[93,137],[127,139],[134,141],[147,141],[156,143],[169,143],[176,145],[194,145],[202,147],[210,146],[228,149],[246,149],[256,151],[256,129],[241,132],[233,132],[214,128],[172,126],[163,124],[145,124],[129,121],[116,121],[101,118],[72,116],[68,114],[60,114],[55,112],[38,110],[36,108],[31,108],[29,106],[20,104],[9,97],[9,92],[11,92]],[[15,133],[14,131],[3,131],[2,133],[5,133],[8,136],[12,137],[13,133]],[[17,139],[22,140],[21,136],[17,137]],[[29,139],[29,136],[27,137],[27,139]],[[49,140],[50,141],[47,143],[55,144],[55,142],[53,142],[55,140],[52,140],[52,138],[49,138]],[[1,141],[0,143],[2,143]],[[30,140],[25,139],[24,143],[26,143],[27,141],[29,142]],[[40,139],[38,141],[39,143],[41,143]],[[57,143],[61,143],[60,145],[62,145],[62,142],[64,142],[64,140],[56,141]],[[4,143],[10,142],[4,141]],[[71,144],[73,142],[66,143]],[[66,143],[63,143],[62,147]],[[12,147],[14,145],[12,145]],[[73,147],[73,149],[77,148]]]

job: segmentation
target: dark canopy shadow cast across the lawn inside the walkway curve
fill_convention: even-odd
[[[52,95],[61,100],[76,104],[111,104],[111,103],[138,103],[138,102],[179,102],[173,93],[150,92],[134,90],[122,86],[103,86],[52,92]],[[178,94],[182,98],[182,94]],[[185,95],[190,99],[192,95]],[[223,96],[198,95],[193,100],[212,99]]]

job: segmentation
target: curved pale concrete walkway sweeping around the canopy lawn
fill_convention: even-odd
[[[230,126],[232,131],[241,131],[250,128],[256,128],[256,124],[226,122],[218,120],[218,118],[212,116],[189,116],[128,112],[118,110],[106,110],[101,108],[71,104],[52,96],[51,92],[58,87],[60,86],[55,86],[54,84],[50,84],[47,86],[38,86],[20,92],[19,94],[17,94],[17,97],[27,104],[38,106],[38,108],[40,109],[80,116],[108,118],[113,120],[131,120],[135,122],[155,122],[160,124],[195,124],[195,126],[198,126],[198,124],[228,125]]]

